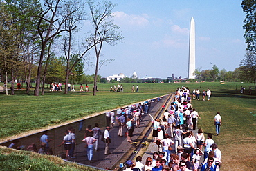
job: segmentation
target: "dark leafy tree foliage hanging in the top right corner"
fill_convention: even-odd
[[[244,19],[244,38],[246,39],[247,48],[250,51],[256,50],[256,1],[244,0],[241,3],[243,12],[246,13]]]

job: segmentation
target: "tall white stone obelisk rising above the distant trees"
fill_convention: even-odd
[[[190,52],[188,57],[188,78],[194,79],[194,70],[196,69],[196,39],[194,29],[194,18],[190,21]]]

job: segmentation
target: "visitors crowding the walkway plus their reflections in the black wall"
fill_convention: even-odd
[[[60,86],[59,86],[60,87]],[[122,87],[120,86],[119,90]],[[144,103],[137,103],[129,105],[127,108],[120,108],[116,112],[106,112],[106,128],[101,131],[98,123],[87,125],[84,139],[82,142],[87,149],[87,158],[91,162],[93,159],[93,150],[98,151],[99,141],[105,143],[104,154],[109,155],[109,145],[111,137],[109,134],[110,128],[118,125],[118,136],[127,136],[127,141],[132,143],[134,129],[140,127],[140,121],[144,114],[148,114],[152,119],[152,143],[157,145],[158,151],[153,153],[152,157],[147,157],[145,163],[142,163],[142,157],[136,157],[136,161],[127,161],[125,163],[126,171],[177,171],[177,170],[219,170],[221,166],[221,151],[214,143],[212,134],[207,134],[207,139],[203,134],[203,130],[199,128],[196,130],[196,125],[201,119],[199,113],[195,108],[192,108],[192,99],[200,99],[200,91],[193,90],[192,98],[190,97],[190,90],[183,86],[177,88],[175,97],[170,106],[167,106],[163,116],[154,119],[149,114],[149,109],[154,102],[160,101],[161,97],[145,101]],[[203,101],[207,96],[210,101],[211,92],[208,89],[203,90]],[[221,127],[220,112],[214,117],[214,125],[216,126],[217,135],[219,135]],[[82,122],[80,122],[80,129],[82,130]],[[194,133],[196,132],[196,133]],[[64,145],[66,150],[62,155],[63,159],[75,158],[73,156],[75,149],[75,130],[68,128],[64,132],[62,143],[58,146]],[[173,139],[172,139],[173,138]],[[40,149],[36,149],[35,144],[28,146],[27,150],[39,152],[40,154],[52,154],[49,147],[49,139],[47,132],[43,132],[40,139]],[[17,142],[12,142],[10,148],[17,148]],[[203,148],[204,147],[204,148]],[[174,148],[174,149],[172,149]],[[201,157],[203,156],[203,159]]]

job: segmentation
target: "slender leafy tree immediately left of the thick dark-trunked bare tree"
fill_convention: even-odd
[[[23,61],[23,63],[19,64],[24,68],[28,93],[30,89],[32,66],[34,66],[33,56],[38,46],[35,16],[37,16],[41,10],[41,5],[39,0],[6,0],[4,4],[12,17],[12,23],[19,30],[16,37],[19,37],[20,43],[17,46],[18,50],[15,54]]]

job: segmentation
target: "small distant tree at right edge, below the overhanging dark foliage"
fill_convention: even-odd
[[[256,52],[247,51],[244,59],[240,62],[241,74],[244,79],[254,83],[256,90]]]

